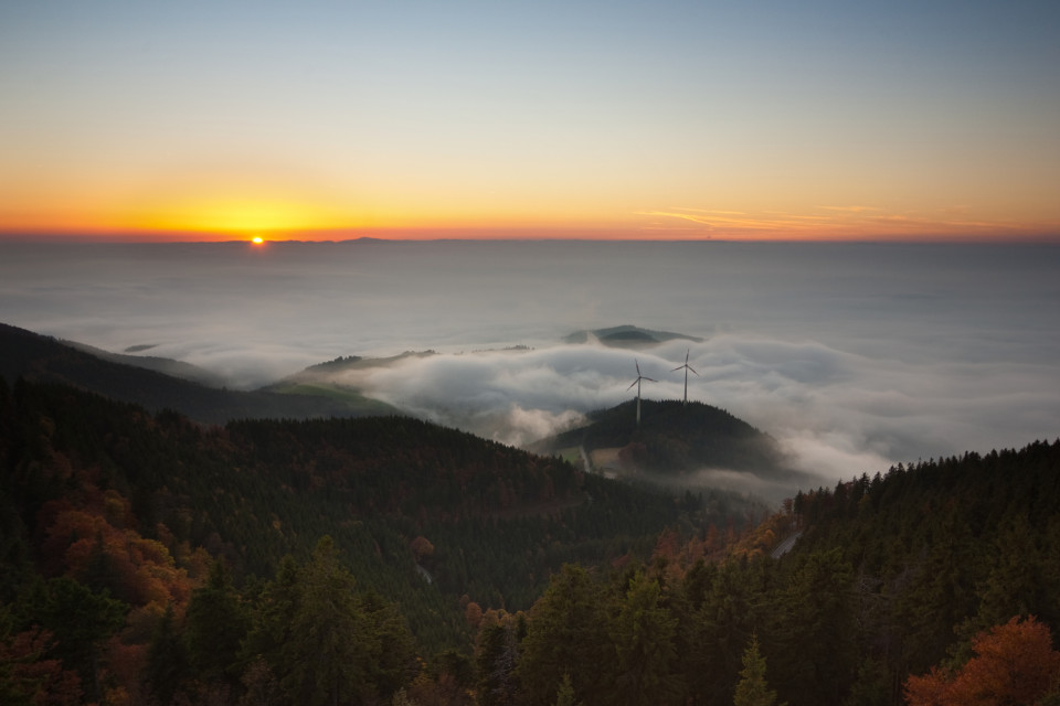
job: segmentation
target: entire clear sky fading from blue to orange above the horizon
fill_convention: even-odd
[[[1060,3],[0,3],[0,236],[1060,237]]]

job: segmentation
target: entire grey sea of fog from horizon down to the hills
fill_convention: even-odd
[[[0,321],[250,388],[339,355],[371,396],[510,443],[689,397],[825,481],[1060,436],[1060,247],[590,242],[0,244]],[[675,331],[638,351],[575,330]],[[529,346],[529,351],[506,351]]]

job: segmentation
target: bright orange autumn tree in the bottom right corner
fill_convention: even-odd
[[[905,682],[910,706],[1032,706],[1057,684],[1060,652],[1049,628],[1017,616],[978,633],[975,656],[950,671],[932,667]]]

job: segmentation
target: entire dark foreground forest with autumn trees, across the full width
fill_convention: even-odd
[[[1060,441],[770,511],[20,379],[0,469],[3,704],[1060,704]]]

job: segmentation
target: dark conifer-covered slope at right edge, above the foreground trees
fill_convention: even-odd
[[[868,627],[895,666],[923,671],[1016,614],[1060,638],[1060,441],[898,466],[793,511],[799,553],[838,549],[878,601]]]

